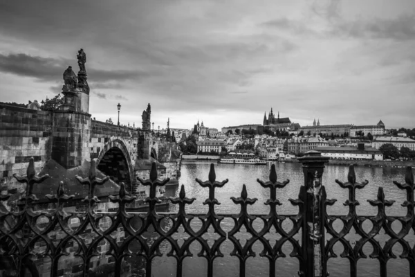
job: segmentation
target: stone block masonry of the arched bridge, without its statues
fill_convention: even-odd
[[[151,161],[158,163],[162,177],[176,179],[180,166],[176,149],[176,143],[149,130],[100,122],[90,114],[0,105],[0,188],[5,193],[23,192],[12,176],[26,174],[30,157],[37,172],[52,161],[55,168],[73,171],[96,158],[98,170],[135,192],[136,176],[147,176]]]

